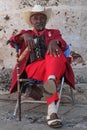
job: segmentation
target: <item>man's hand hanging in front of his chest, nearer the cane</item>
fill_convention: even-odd
[[[25,41],[25,45],[28,46],[29,49],[32,51],[35,48],[34,39],[28,33],[23,34],[22,36]]]

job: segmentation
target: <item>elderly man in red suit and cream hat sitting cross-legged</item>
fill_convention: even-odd
[[[63,40],[60,31],[46,29],[51,14],[51,9],[44,9],[35,5],[31,11],[25,12],[25,19],[33,30],[22,30],[11,39],[16,41],[20,48],[20,54],[28,46],[26,56],[20,62],[21,77],[27,74],[28,78],[43,81],[47,91],[53,92],[47,97],[48,104],[47,124],[53,128],[62,126],[57,116],[56,103],[59,100],[56,88],[63,75],[66,82],[74,88],[74,75],[72,68],[63,52],[67,44]],[[67,71],[68,70],[68,71]],[[16,91],[16,68],[13,72],[10,92]]]

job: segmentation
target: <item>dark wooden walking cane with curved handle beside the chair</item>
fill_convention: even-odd
[[[15,46],[16,49],[16,61],[17,61],[17,92],[18,92],[18,113],[19,121],[21,121],[21,89],[20,89],[20,66],[19,66],[19,46],[13,40],[8,40],[7,44],[11,43]]]

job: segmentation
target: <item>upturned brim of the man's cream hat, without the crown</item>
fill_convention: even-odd
[[[48,8],[48,9],[45,9],[45,11],[40,11],[40,12],[31,12],[31,11],[25,11],[24,12],[24,18],[25,18],[25,21],[26,23],[29,25],[29,26],[32,26],[31,22],[30,22],[30,17],[34,14],[38,14],[38,13],[41,13],[41,14],[44,14],[47,16],[47,21],[46,23],[49,21],[50,17],[51,17],[51,12],[52,12],[52,9],[51,8]]]

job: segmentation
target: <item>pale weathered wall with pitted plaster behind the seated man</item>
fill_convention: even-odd
[[[13,68],[15,51],[6,41],[13,33],[29,28],[23,18],[25,9],[35,3],[52,7],[48,28],[58,28],[71,50],[87,61],[87,0],[0,0],[0,68]],[[84,66],[83,66],[84,67]]]

